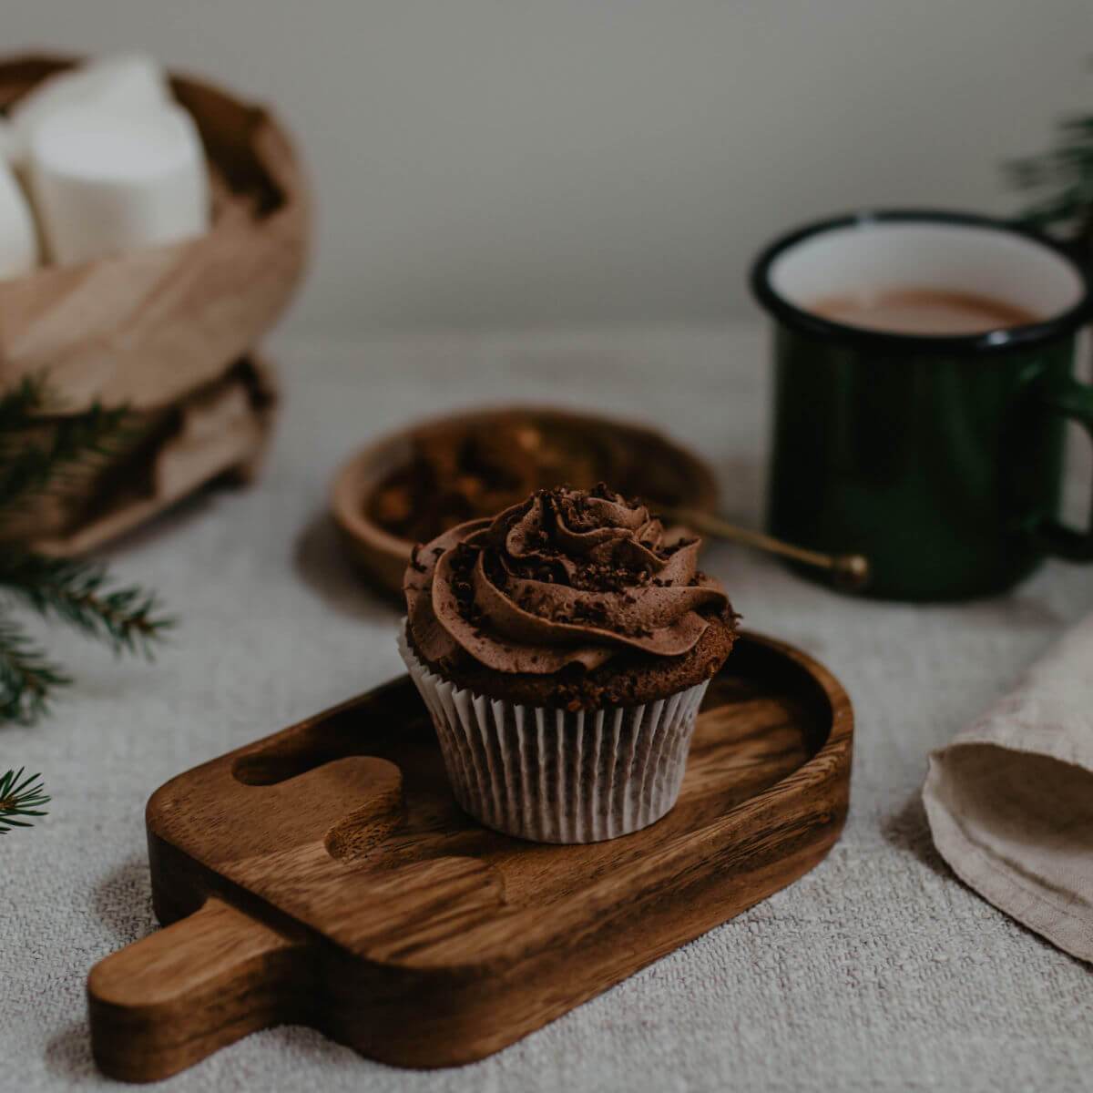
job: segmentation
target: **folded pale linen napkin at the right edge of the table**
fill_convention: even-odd
[[[1093,616],[930,755],[922,801],[961,880],[1093,962]]]

